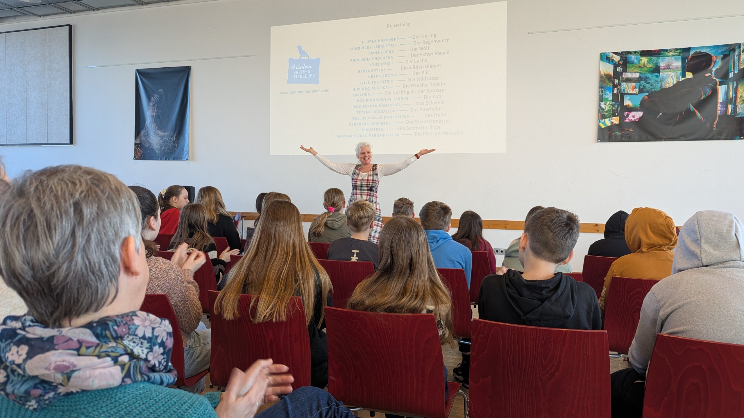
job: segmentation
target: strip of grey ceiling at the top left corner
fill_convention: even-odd
[[[0,0],[0,23],[179,0]]]

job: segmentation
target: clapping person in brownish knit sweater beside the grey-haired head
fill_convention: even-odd
[[[172,260],[155,257],[155,242],[160,230],[160,208],[158,199],[150,190],[141,186],[129,186],[139,201],[142,218],[142,241],[144,242],[147,269],[147,295],[166,295],[181,328],[184,343],[185,375],[191,377],[209,368],[209,352],[212,331],[202,324],[202,303],[199,302],[199,285],[193,281],[193,272],[207,261],[202,251],[186,254],[188,245],[183,243],[176,249]],[[205,390],[205,379],[186,388],[193,393]]]

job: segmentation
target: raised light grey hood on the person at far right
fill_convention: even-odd
[[[739,218],[734,213],[702,210],[679,230],[672,274],[699,267],[744,269],[743,261],[744,225]]]

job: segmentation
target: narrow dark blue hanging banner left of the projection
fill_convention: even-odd
[[[135,76],[135,160],[188,159],[191,67],[141,68]]]

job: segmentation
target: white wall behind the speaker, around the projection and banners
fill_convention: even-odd
[[[85,164],[151,190],[211,184],[222,190],[231,210],[253,210],[257,193],[280,190],[302,212],[318,212],[323,191],[341,187],[348,193],[349,180],[310,155],[269,156],[269,27],[481,2],[220,0],[0,25],[0,30],[74,25],[75,127],[74,147],[3,148],[0,153],[11,176],[50,164]],[[653,0],[641,9],[610,10],[606,1],[510,0],[509,88],[503,97],[493,97],[510,105],[507,152],[426,155],[382,181],[383,208],[408,196],[417,208],[437,199],[452,205],[456,215],[472,209],[484,219],[523,219],[533,205],[554,205],[574,210],[583,222],[604,222],[615,210],[652,206],[666,210],[677,225],[696,210],[740,212],[743,143],[597,144],[595,115],[600,51],[743,42],[744,18],[527,34],[744,12],[736,0],[717,1],[715,9],[699,4]],[[488,53],[484,39],[483,54]],[[132,160],[138,67],[83,68],[243,54],[257,56],[164,64],[193,66],[191,156],[184,162]],[[153,66],[161,65],[139,67]],[[312,132],[302,141],[312,145]],[[334,159],[352,161],[352,142],[349,155]],[[403,158],[377,155],[376,161]],[[518,235],[487,231],[496,247]],[[580,237],[577,269],[597,238]]]

